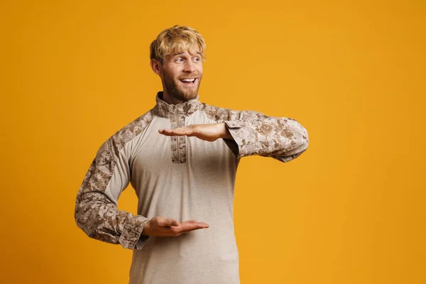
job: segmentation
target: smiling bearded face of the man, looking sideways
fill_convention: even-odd
[[[195,99],[202,79],[202,56],[198,49],[165,55],[160,65],[163,88],[170,97]]]

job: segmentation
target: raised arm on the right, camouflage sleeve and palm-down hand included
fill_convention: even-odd
[[[236,158],[262,155],[288,162],[306,151],[307,131],[295,119],[267,116],[258,111],[224,111],[217,124],[192,124],[178,129],[158,129],[167,136],[195,136],[205,141],[223,138]]]

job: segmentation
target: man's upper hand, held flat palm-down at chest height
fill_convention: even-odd
[[[158,129],[158,132],[166,136],[195,136],[210,142],[219,138],[234,140],[224,122],[220,124],[191,124],[178,129]]]

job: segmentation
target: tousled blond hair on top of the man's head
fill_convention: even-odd
[[[205,61],[206,44],[202,35],[189,26],[175,25],[162,31],[151,43],[150,57],[163,63],[165,55],[190,50],[195,46],[200,49],[202,61]]]

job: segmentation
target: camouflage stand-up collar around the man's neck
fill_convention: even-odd
[[[199,101],[200,95],[197,94],[195,99],[189,99],[181,104],[168,104],[163,101],[163,91],[158,92],[155,96],[154,114],[161,117],[169,117],[170,115],[180,114],[190,116],[195,111],[199,110],[202,103]]]

